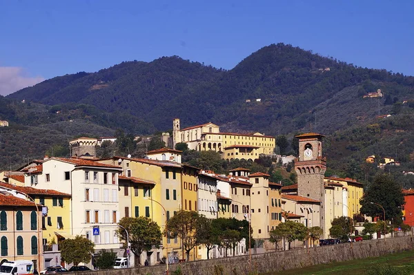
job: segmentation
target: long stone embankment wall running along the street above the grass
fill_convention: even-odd
[[[339,245],[327,245],[313,247],[311,249],[294,249],[286,252],[271,252],[252,255],[252,264],[249,265],[249,256],[236,256],[232,258],[218,258],[212,260],[197,260],[194,262],[169,265],[169,274],[177,267],[181,267],[183,275],[245,275],[252,272],[277,272],[286,269],[306,267],[342,262],[358,258],[368,258],[402,252],[413,249],[413,240],[410,236],[388,238],[380,240],[368,240],[358,243],[343,243]],[[251,268],[251,269],[250,269]],[[123,275],[164,275],[166,265],[122,269]],[[116,275],[119,269],[94,272],[97,275]],[[79,274],[79,273],[77,273]],[[253,273],[255,274],[255,273]]]

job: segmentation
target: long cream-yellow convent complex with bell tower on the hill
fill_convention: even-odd
[[[262,133],[220,133],[211,122],[180,129],[180,121],[173,122],[172,144],[185,142],[189,149],[216,151],[225,160],[256,160],[260,154],[270,155],[275,149],[275,137]]]

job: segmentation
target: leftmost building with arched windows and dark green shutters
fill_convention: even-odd
[[[20,197],[20,198],[19,198]],[[39,211],[37,211],[39,209]],[[0,193],[0,262],[32,260],[34,269],[43,267],[41,205],[21,198],[21,194]]]

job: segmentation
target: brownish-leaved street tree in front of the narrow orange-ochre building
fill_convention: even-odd
[[[181,238],[183,250],[186,252],[187,261],[190,260],[190,251],[199,245],[199,234],[201,232],[200,216],[196,211],[178,211],[167,222],[168,232]]]

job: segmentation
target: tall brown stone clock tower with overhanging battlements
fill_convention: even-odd
[[[324,174],[326,171],[326,159],[322,157],[322,138],[324,135],[305,133],[297,135],[296,138],[299,139],[299,160],[295,162],[297,194],[321,202],[319,225],[324,229]]]

